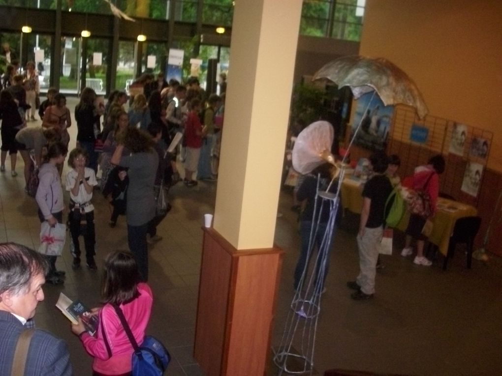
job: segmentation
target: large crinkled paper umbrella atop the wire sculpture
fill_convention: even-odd
[[[313,80],[321,78],[333,81],[338,87],[349,86],[356,99],[374,90],[386,106],[398,103],[412,106],[420,118],[429,112],[413,80],[384,58],[344,56],[319,69]]]

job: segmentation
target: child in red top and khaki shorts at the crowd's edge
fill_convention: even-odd
[[[185,123],[185,178],[183,182],[186,186],[197,185],[197,181],[192,179],[194,171],[197,169],[200,156],[200,148],[202,146],[202,137],[205,132],[202,129],[202,124],[199,119],[201,109],[200,99],[194,98],[190,102],[190,112]]]

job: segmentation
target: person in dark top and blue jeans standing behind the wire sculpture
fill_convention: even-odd
[[[300,248],[300,256],[298,258],[294,274],[293,287],[295,290],[298,290],[298,288],[300,287],[302,274],[306,268],[308,269],[308,263],[312,258],[312,254],[314,253],[313,251],[315,250],[315,247],[317,247],[317,249],[319,250],[321,246],[322,239],[326,232],[329,220],[330,205],[328,202],[324,202],[324,205],[322,205],[322,210],[320,211],[322,200],[318,201],[316,217],[312,218],[314,215],[314,204],[315,204],[315,197],[317,194],[317,176],[318,174],[320,174],[320,179],[321,179],[319,186],[320,191],[326,191],[329,182],[331,181],[332,171],[333,171],[333,165],[329,163],[324,163],[319,167],[316,167],[310,174],[304,177],[303,182],[299,186],[298,192],[296,194],[298,202],[300,203],[306,202],[306,203],[305,203],[305,209],[300,214],[301,248]],[[331,184],[330,192],[334,193],[335,190],[336,190],[336,184]],[[320,217],[318,217],[319,215]],[[313,249],[311,250],[309,255],[310,232],[312,229],[312,224],[314,225],[313,230],[315,231],[317,219],[319,219],[319,223],[317,225],[317,232],[315,234],[315,238],[313,239],[313,247],[312,247]],[[331,244],[333,242],[333,237],[331,237],[328,241],[329,241],[328,249],[330,250]],[[322,261],[321,258],[317,259],[317,265],[314,271],[316,273],[316,281],[318,274],[321,270],[320,268],[321,261]],[[326,279],[326,275],[328,274],[328,268],[329,268],[329,256],[326,259],[326,265],[324,269],[325,272],[323,276],[323,286],[324,286],[324,280]],[[308,280],[305,279],[304,283],[308,283]],[[321,289],[321,291],[324,292],[324,289]]]

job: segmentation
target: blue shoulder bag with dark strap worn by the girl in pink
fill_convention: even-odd
[[[145,336],[141,345],[138,346],[122,310],[115,304],[113,304],[113,308],[115,309],[115,312],[117,313],[118,318],[120,319],[120,322],[122,323],[122,326],[134,348],[132,359],[133,376],[161,376],[164,374],[164,371],[171,360],[171,355],[169,354],[167,348],[161,341],[151,335]],[[104,335],[103,338],[105,339],[108,355],[111,356],[111,351]]]

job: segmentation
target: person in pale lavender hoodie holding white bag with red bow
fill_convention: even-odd
[[[50,248],[54,248],[52,245],[57,243],[54,242],[54,234],[52,233],[52,229],[56,229],[56,232],[61,230],[61,227],[64,230],[63,222],[63,188],[61,186],[61,177],[59,176],[59,171],[56,167],[57,164],[63,163],[66,158],[66,153],[68,149],[65,144],[62,142],[54,142],[49,145],[47,150],[47,155],[44,158],[43,164],[40,166],[39,170],[39,185],[37,189],[37,195],[35,199],[38,204],[38,216],[40,218],[40,222],[42,224],[47,222],[50,225],[49,233],[43,233],[44,227],[47,228],[46,225],[42,226],[41,232],[41,248],[39,252],[46,252]],[[48,240],[50,239],[50,240]],[[64,238],[63,238],[64,239]],[[56,239],[57,241],[58,239]],[[59,239],[59,241],[61,241]],[[47,243],[47,244],[45,244]],[[64,245],[64,242],[62,243]],[[52,252],[49,252],[52,253]],[[60,278],[65,274],[63,271],[56,270],[56,258],[54,255],[45,255],[45,257],[49,261],[49,273],[46,276],[46,282],[59,285],[64,281]]]

